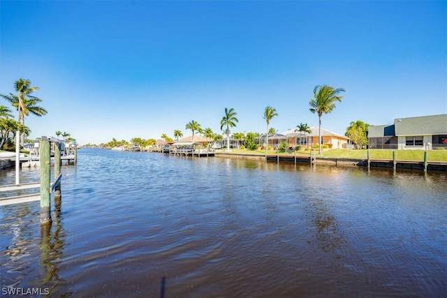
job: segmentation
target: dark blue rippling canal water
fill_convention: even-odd
[[[445,173],[82,149],[62,174],[51,228],[0,207],[3,295],[447,296]]]

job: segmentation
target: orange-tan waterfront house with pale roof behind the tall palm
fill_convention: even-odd
[[[304,133],[298,131],[298,128],[292,128],[284,131],[281,135],[287,137],[289,147],[301,146],[302,148],[307,148],[318,144],[318,126],[312,126],[310,131],[311,133]],[[346,148],[348,141],[349,137],[321,128],[321,144],[327,144],[332,149],[338,149]]]

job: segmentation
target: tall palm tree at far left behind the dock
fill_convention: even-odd
[[[38,91],[38,87],[31,87],[30,80],[19,79],[15,81],[14,87],[17,95],[9,94],[3,95],[1,97],[8,100],[13,107],[17,108],[19,112],[19,122],[20,124],[24,124],[24,117],[28,116],[29,113],[34,114],[38,117],[41,117],[47,114],[47,110],[43,107],[39,107],[37,104],[41,103],[43,100],[36,96],[31,96],[34,91]],[[22,140],[20,141],[22,144],[24,142],[24,135],[22,134]]]

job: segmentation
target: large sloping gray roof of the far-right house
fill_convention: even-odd
[[[447,114],[397,118],[395,135],[447,135]]]

